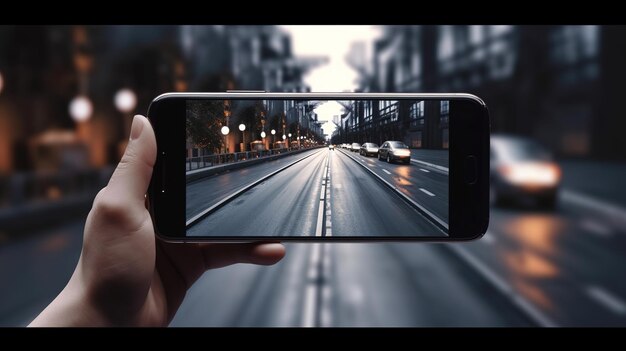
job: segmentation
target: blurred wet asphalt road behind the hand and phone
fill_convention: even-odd
[[[352,161],[335,152],[331,183]],[[554,212],[492,209],[470,243],[287,244],[275,266],[207,272],[171,325],[626,326],[626,209],[563,190]],[[83,222],[0,246],[0,325],[27,324],[63,287]]]

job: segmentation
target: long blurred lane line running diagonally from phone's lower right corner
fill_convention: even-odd
[[[537,325],[541,327],[558,327],[558,325],[543,314],[528,300],[517,294],[513,288],[507,284],[502,278],[500,278],[491,269],[487,268],[482,262],[480,262],[474,255],[470,254],[466,249],[461,248],[458,245],[447,245],[452,252],[456,253],[458,257],[464,260],[469,266],[483,276],[489,283],[491,283],[497,290],[511,300],[511,302],[519,307],[526,315],[531,318]]]

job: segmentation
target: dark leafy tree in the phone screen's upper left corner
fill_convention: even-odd
[[[187,103],[187,139],[196,147],[211,150],[223,147],[221,128],[225,123],[223,101],[192,100]]]

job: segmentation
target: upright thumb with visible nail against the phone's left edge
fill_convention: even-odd
[[[150,121],[136,115],[126,151],[109,180],[107,193],[120,201],[136,201],[143,206],[156,152],[156,139]]]

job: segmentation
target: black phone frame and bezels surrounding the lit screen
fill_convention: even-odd
[[[185,123],[187,100],[448,100],[449,120],[449,198],[447,230],[445,237],[405,236],[207,236],[187,237],[185,214],[185,188],[177,185],[185,181],[185,156],[179,152],[185,145]],[[453,103],[454,102],[454,103]],[[453,109],[454,107],[454,109]],[[457,110],[453,115],[453,111]],[[468,241],[482,237],[489,225],[489,135],[490,121],[486,104],[479,97],[466,93],[267,93],[240,91],[226,93],[165,93],[157,96],[147,113],[157,139],[157,159],[148,188],[149,211],[157,236],[167,242],[451,242]],[[454,117],[456,116],[456,117]],[[171,135],[181,135],[173,140]],[[180,155],[180,156],[172,156]],[[473,161],[468,162],[470,157]],[[180,162],[182,161],[182,163]],[[180,167],[179,167],[180,166]],[[179,168],[177,168],[179,167]],[[471,181],[468,179],[472,179]],[[176,191],[178,190],[178,192]],[[162,206],[161,204],[168,204]],[[172,207],[177,203],[181,208]],[[177,213],[174,214],[173,213]],[[177,218],[180,217],[180,218]],[[174,218],[172,218],[174,217]],[[182,222],[181,222],[182,219]],[[178,231],[183,224],[182,236],[166,235]],[[178,228],[178,229],[174,229]]]

